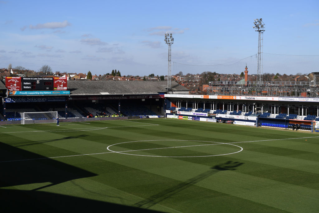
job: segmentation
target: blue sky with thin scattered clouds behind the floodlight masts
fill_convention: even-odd
[[[0,67],[12,64],[38,70],[50,65],[54,72],[90,70],[99,75],[117,69],[122,75],[167,75],[164,33],[168,32],[174,37],[173,74],[239,74],[244,65],[228,69],[173,62],[216,65],[255,55],[256,18],[266,26],[264,53],[319,55],[319,1],[257,3],[0,0]],[[250,74],[256,73],[252,58],[248,59]],[[300,62],[298,57],[264,54],[263,72],[319,72],[318,58],[304,57]],[[287,68],[292,61],[299,67]]]

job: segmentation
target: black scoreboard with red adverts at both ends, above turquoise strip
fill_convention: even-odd
[[[6,77],[5,86],[11,91],[67,90],[67,78]]]

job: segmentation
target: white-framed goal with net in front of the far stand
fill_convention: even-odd
[[[53,112],[21,112],[21,124],[54,123],[58,116],[57,111]]]

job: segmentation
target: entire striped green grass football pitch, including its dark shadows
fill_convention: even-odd
[[[318,212],[319,134],[178,119],[0,126],[1,212]]]

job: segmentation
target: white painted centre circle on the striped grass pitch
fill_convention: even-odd
[[[115,143],[112,145],[109,145],[107,147],[107,149],[111,152],[115,152],[115,153],[119,153],[119,154],[125,154],[125,155],[135,155],[135,156],[146,156],[146,157],[211,157],[211,156],[222,156],[222,155],[231,155],[231,154],[235,154],[238,152],[241,152],[243,150],[242,147],[231,144],[231,143],[221,143],[221,142],[214,142],[214,141],[194,141],[194,142],[209,142],[212,144],[201,144],[201,145],[192,145],[192,146],[179,146],[179,147],[165,147],[165,148],[148,148],[148,149],[137,149],[137,150],[128,150],[128,151],[114,151],[111,150],[110,147],[112,146],[116,146],[118,144],[124,144],[124,143],[132,143],[132,142],[150,142],[150,141],[190,141],[190,140],[147,140],[147,141],[128,141],[128,142],[122,142],[122,143]],[[144,151],[144,150],[152,150],[152,149],[166,149],[166,148],[182,148],[182,147],[195,147],[195,146],[211,146],[211,145],[222,145],[222,144],[226,144],[226,145],[230,145],[230,146],[235,146],[240,148],[239,151],[237,152],[232,152],[232,153],[226,153],[226,154],[220,154],[220,155],[205,155],[205,156],[154,156],[154,155],[137,155],[137,154],[130,154],[128,152],[133,152],[133,151]]]

